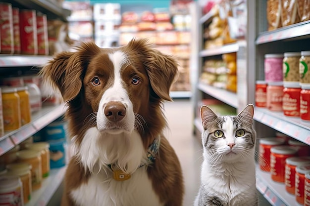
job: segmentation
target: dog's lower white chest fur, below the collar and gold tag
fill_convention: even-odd
[[[103,181],[103,172],[93,175],[88,183],[71,191],[78,206],[163,206],[152,186],[145,167],[135,171],[131,178]]]

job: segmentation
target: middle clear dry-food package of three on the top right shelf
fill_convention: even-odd
[[[300,22],[297,0],[281,0],[280,2],[282,26]]]

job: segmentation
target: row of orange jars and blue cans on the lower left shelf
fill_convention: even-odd
[[[14,204],[23,206],[32,199],[32,192],[42,187],[52,168],[66,164],[65,125],[62,120],[55,121],[40,132],[44,141],[30,137],[0,157],[1,203],[17,201]]]

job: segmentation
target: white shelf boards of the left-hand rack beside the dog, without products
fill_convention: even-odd
[[[4,0],[12,3],[13,6],[20,9],[35,9],[37,12],[47,14],[48,19],[60,19],[67,21],[67,16],[70,15],[70,10],[63,9],[57,5],[56,1],[51,0]],[[36,67],[40,68],[45,65],[52,56],[43,55],[22,55],[22,54],[0,54],[0,73],[10,74],[16,73],[19,70],[33,70]],[[35,69],[34,69],[35,68]],[[15,75],[16,75],[15,74]],[[19,129],[5,132],[0,136],[0,156],[13,149],[16,145],[28,139],[33,134],[40,131],[42,128],[52,123],[57,118],[64,115],[66,110],[65,104],[57,104],[43,106],[38,112],[34,112],[31,116],[31,122],[23,125]],[[47,206],[62,183],[66,166],[56,169],[51,169],[50,176],[43,180],[42,187],[33,191],[31,201],[25,206]]]

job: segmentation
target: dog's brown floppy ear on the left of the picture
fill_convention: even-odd
[[[64,101],[74,99],[82,88],[84,70],[100,48],[94,42],[82,43],[74,52],[56,54],[40,71],[44,82],[59,89]]]

